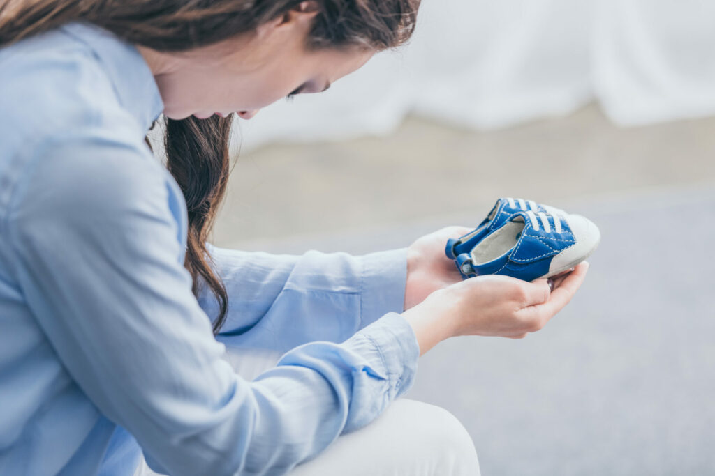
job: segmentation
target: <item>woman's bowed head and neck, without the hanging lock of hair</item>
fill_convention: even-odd
[[[137,45],[168,118],[234,111],[250,118],[292,92],[322,91],[376,51],[402,44],[418,2],[0,0],[0,44],[89,21]]]

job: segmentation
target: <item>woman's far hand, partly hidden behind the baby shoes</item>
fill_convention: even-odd
[[[405,310],[421,303],[434,291],[462,280],[453,260],[445,256],[449,238],[459,238],[473,228],[448,226],[425,235],[407,250]]]

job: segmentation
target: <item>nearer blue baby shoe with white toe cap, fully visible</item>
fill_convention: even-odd
[[[479,228],[478,228],[479,229]],[[508,275],[525,281],[558,275],[588,258],[601,240],[587,218],[567,213],[518,211],[457,255],[467,278]]]

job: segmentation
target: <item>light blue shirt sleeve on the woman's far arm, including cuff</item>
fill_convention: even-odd
[[[246,253],[207,246],[228,295],[219,340],[235,347],[285,351],[314,340],[342,342],[405,302],[405,249],[351,256]],[[204,286],[209,318],[217,300]]]

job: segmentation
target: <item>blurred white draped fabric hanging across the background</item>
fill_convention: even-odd
[[[407,113],[488,129],[596,98],[624,126],[715,112],[713,0],[423,0],[413,41],[240,121],[245,148],[379,135]]]

